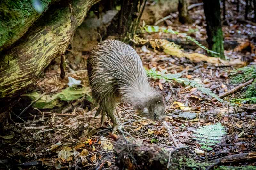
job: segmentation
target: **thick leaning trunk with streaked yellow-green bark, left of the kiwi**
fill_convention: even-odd
[[[61,1],[52,5],[17,45],[0,56],[0,101],[17,96],[52,59],[66,51],[86,12],[99,1]]]

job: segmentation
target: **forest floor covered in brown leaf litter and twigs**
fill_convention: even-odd
[[[231,3],[231,1],[230,1]],[[228,4],[227,25],[223,26],[225,40],[237,41],[243,44],[253,41],[256,26],[239,21],[235,11],[235,4]],[[242,10],[242,9],[241,9]],[[168,21],[160,24],[169,25],[173,30],[187,33],[196,39],[205,40],[206,30],[204,11],[201,6],[189,11],[192,24],[180,24],[177,13]],[[237,17],[234,17],[236,16]],[[232,18],[232,19],[231,19]],[[234,19],[236,18],[236,19]],[[147,34],[147,38],[162,38],[161,33]],[[165,35],[175,39],[173,35]],[[242,48],[242,47],[241,47]],[[225,50],[228,59],[240,59],[249,65],[256,63],[255,53],[252,51],[232,49]],[[187,52],[206,54],[203,49],[185,49]],[[209,88],[216,94],[221,94],[233,89],[238,84],[230,83],[229,66],[214,66],[206,62],[191,62],[187,58],[178,58],[164,53],[162,50],[153,50],[150,46],[136,47],[142,58],[145,68],[156,68],[157,71],[167,70],[166,73],[180,73],[182,77],[194,80]],[[76,58],[80,54],[79,58]],[[56,59],[37,79],[30,91],[46,92],[47,95],[61,92],[67,88],[68,76],[81,80],[81,85],[88,86],[86,58],[87,49],[83,52],[70,49],[66,56],[67,68],[64,79],[60,78],[60,61]],[[220,122],[225,126],[227,134],[221,142],[209,151],[208,160],[215,160],[228,155],[256,152],[256,105],[241,104],[233,131],[229,132],[234,118],[234,108],[221,102],[212,102],[211,96],[205,95],[197,88],[184,86],[176,82],[167,82],[163,79],[151,79],[152,85],[164,93],[166,103],[166,121],[180,147],[189,147],[190,158],[205,162],[205,154],[198,153],[200,144],[193,139],[193,130],[199,126]],[[231,94],[232,98],[241,98],[242,90]],[[54,109],[29,108],[20,118],[17,115],[29,104],[23,104],[23,98],[12,110],[8,123],[4,126],[5,135],[0,136],[1,168],[20,169],[117,169],[115,155],[112,152],[115,141],[111,138],[112,123],[105,121],[100,126],[100,116],[94,118],[97,107],[92,109],[90,102],[76,100],[66,103],[66,108],[61,106]],[[182,104],[185,107],[182,107]],[[133,137],[137,144],[152,143],[167,150],[174,149],[174,144],[166,130],[158,123],[141,118],[132,107],[121,103],[116,107],[123,122],[129,121],[135,126],[134,132],[123,133],[126,138]],[[116,112],[115,112],[116,114]],[[119,137],[122,133],[117,132]],[[200,149],[201,150],[201,149]],[[4,166],[5,165],[5,168]],[[230,165],[228,162],[226,165]],[[234,166],[256,166],[255,161],[236,162]],[[7,169],[6,168],[6,169]],[[205,167],[202,167],[204,169]],[[15,168],[14,168],[15,169]],[[232,168],[231,168],[232,169]]]

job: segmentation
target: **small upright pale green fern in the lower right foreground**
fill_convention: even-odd
[[[207,163],[207,151],[212,151],[210,146],[215,146],[216,144],[220,143],[220,139],[222,139],[223,135],[226,134],[224,126],[221,123],[217,123],[214,125],[206,125],[201,126],[194,130],[196,134],[196,138],[193,138],[199,142],[202,146],[200,148],[204,149],[205,152],[205,159]]]

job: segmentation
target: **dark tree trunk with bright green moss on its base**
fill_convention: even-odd
[[[220,53],[219,55],[211,54],[214,57],[225,59],[223,47],[223,33],[221,29],[221,10],[219,0],[204,2],[204,13],[206,18],[207,43],[212,51]]]

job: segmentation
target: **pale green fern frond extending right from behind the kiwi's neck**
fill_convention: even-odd
[[[155,68],[151,69],[151,70],[146,70],[146,73],[148,76],[154,78],[154,79],[164,79],[166,81],[171,81],[174,80],[178,83],[183,83],[187,86],[191,86],[193,88],[197,88],[199,91],[203,92],[204,94],[207,94],[209,96],[212,96],[214,98],[216,98],[217,100],[221,100],[214,92],[212,92],[210,89],[205,88],[203,85],[197,83],[196,81],[193,80],[189,80],[188,78],[180,78],[181,74],[177,73],[177,74],[165,74],[165,71],[162,72],[158,72],[156,71]]]

